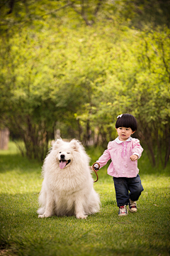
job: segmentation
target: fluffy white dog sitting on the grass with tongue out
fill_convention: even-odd
[[[100,208],[89,169],[89,156],[76,139],[57,139],[42,166],[38,217],[76,215],[86,218]]]

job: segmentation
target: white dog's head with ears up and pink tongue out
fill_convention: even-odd
[[[71,142],[64,142],[62,139],[57,139],[52,149],[57,151],[60,169],[64,169],[69,164],[72,164],[75,151],[79,151],[79,142],[76,139],[72,139]]]

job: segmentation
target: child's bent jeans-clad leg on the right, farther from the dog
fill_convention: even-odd
[[[137,201],[144,190],[139,174],[135,178],[128,178],[129,198],[131,201]]]

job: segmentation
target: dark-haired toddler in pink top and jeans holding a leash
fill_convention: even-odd
[[[108,174],[113,176],[115,185],[115,196],[119,207],[119,216],[128,215],[126,206],[129,206],[131,213],[137,212],[136,201],[144,190],[140,181],[137,159],[142,155],[142,146],[138,139],[130,135],[137,130],[137,120],[132,114],[120,114],[117,117],[115,129],[118,137],[108,142],[108,149],[98,159],[100,168],[106,165],[109,159]],[[98,171],[98,164],[94,168]]]

